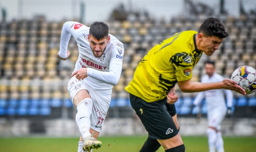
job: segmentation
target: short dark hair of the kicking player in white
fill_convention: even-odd
[[[98,41],[107,38],[108,34],[109,27],[106,23],[95,21],[91,24],[89,35],[93,36]]]

